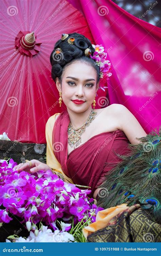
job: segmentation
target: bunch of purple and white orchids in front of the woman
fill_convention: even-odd
[[[94,199],[88,198],[91,190],[63,182],[50,170],[18,173],[13,170],[16,165],[13,159],[0,160],[0,223],[9,223],[12,215],[20,217],[30,232],[28,241],[41,241],[44,232],[52,242],[55,233],[61,236],[60,241],[66,236],[65,241],[74,238],[77,242],[86,242],[83,227],[95,222],[97,212],[103,210],[92,203]]]

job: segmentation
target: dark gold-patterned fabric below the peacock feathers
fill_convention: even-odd
[[[161,225],[134,204],[111,219],[106,228],[87,237],[87,242],[161,242]]]

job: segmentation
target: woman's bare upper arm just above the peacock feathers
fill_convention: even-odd
[[[136,138],[145,137],[147,133],[139,124],[136,117],[122,104],[114,104],[119,129],[122,130],[131,144],[140,143]]]

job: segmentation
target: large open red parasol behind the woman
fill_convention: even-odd
[[[88,24],[67,1],[48,0],[5,0],[0,21],[0,134],[6,132],[8,138],[21,142],[46,143],[48,118],[65,109],[57,103],[50,54],[62,33],[81,33],[94,43]]]

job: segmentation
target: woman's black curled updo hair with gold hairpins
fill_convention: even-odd
[[[91,54],[95,52],[91,41],[82,34],[71,33],[65,40],[59,39],[54,46],[54,49],[50,55],[50,63],[52,65],[51,76],[54,82],[56,82],[56,77],[58,77],[59,82],[62,82],[62,72],[65,67],[69,66],[75,60],[81,60],[86,62],[88,65],[92,66],[97,72],[97,81],[96,84],[100,81],[100,67],[94,65],[95,60],[91,57],[85,55],[85,49],[89,48]],[[68,43],[68,38],[74,37],[74,44]],[[62,54],[54,54],[57,48],[61,48]]]

